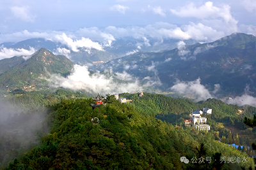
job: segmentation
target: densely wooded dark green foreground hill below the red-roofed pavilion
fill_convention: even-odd
[[[215,141],[211,132],[175,127],[121,104],[108,96],[106,106],[91,107],[92,99],[67,99],[49,109],[51,131],[7,169],[239,169],[254,166],[245,153]],[[92,124],[92,118],[99,124]],[[200,145],[204,143],[204,146]],[[192,164],[197,157],[240,157],[247,162]],[[180,162],[180,157],[189,164]],[[198,161],[197,161],[198,162]]]

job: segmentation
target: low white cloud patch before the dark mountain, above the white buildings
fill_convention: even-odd
[[[209,90],[207,90],[204,85],[201,85],[200,78],[188,82],[177,81],[170,89],[179,92],[180,94],[190,94],[195,96],[197,101],[212,98]]]

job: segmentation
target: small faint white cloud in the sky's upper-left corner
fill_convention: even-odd
[[[31,15],[28,6],[12,6],[11,11],[16,18],[26,22],[34,22],[36,17],[35,15]]]

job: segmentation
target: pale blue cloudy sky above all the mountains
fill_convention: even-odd
[[[255,17],[255,0],[0,1],[0,43],[57,41],[63,33],[74,41],[124,36],[214,41],[233,32],[255,35]]]

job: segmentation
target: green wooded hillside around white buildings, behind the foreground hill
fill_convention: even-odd
[[[159,94],[144,93],[142,97],[139,94],[119,94],[120,97],[132,99],[127,103],[136,111],[145,113],[146,115],[154,114],[156,118],[169,122],[173,125],[184,125],[184,119],[190,119],[191,111],[203,110],[203,108],[211,108],[211,115],[202,115],[207,117],[207,124],[211,125],[211,132],[217,140],[223,143],[233,144],[236,142],[236,136],[239,134],[239,145],[251,146],[256,143],[256,131],[244,125],[244,117],[253,117],[256,108],[252,106],[239,107],[233,104],[226,104],[219,99],[207,99],[207,101],[199,101],[195,103],[189,99],[174,99]],[[228,134],[232,132],[231,138]],[[243,150],[244,151],[244,150]],[[252,148],[244,151],[250,155]]]

